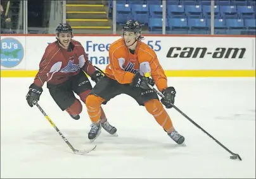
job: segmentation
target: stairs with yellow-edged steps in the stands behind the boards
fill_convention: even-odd
[[[67,1],[66,21],[74,33],[112,33],[107,11],[101,1]]]

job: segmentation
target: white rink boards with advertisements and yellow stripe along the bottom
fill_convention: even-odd
[[[75,35],[94,66],[109,64],[120,35]],[[1,77],[34,77],[54,35],[1,35]],[[168,77],[255,77],[254,36],[145,35]]]

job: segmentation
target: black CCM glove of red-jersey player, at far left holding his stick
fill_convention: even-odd
[[[39,101],[40,95],[42,94],[42,87],[32,83],[29,86],[29,93],[27,93],[26,100],[30,107],[33,107],[34,101]]]

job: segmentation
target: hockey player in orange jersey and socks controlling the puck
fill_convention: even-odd
[[[91,139],[96,139],[101,131],[101,103],[106,103],[117,95],[126,94],[134,98],[139,105],[146,107],[168,136],[177,144],[182,144],[184,137],[174,129],[168,113],[163,108],[163,105],[166,108],[172,107],[170,103],[174,103],[176,91],[174,87],[167,86],[167,78],[157,55],[146,43],[141,42],[142,38],[139,21],[129,20],[122,28],[122,38],[110,45],[110,64],[106,67],[105,76],[94,86],[86,99],[87,112],[95,129]],[[147,73],[150,73],[152,79],[145,76]],[[156,84],[165,97],[160,101],[148,84]]]

